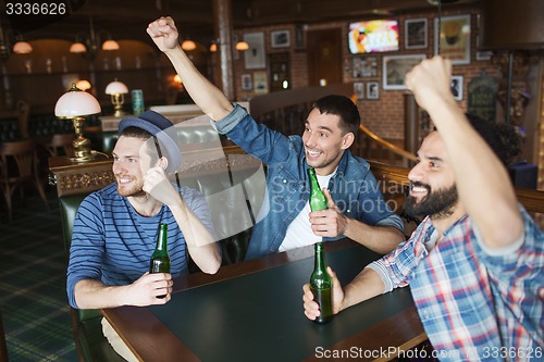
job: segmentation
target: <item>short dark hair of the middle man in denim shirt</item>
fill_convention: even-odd
[[[321,113],[334,114],[339,116],[339,128],[344,134],[353,133],[357,135],[357,129],[361,124],[359,109],[345,96],[331,95],[318,99],[312,109],[318,109]]]

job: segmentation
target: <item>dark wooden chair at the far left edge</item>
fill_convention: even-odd
[[[0,189],[8,204],[10,222],[13,219],[13,192],[24,184],[33,184],[36,187],[49,210],[46,192],[38,177],[37,160],[33,140],[0,143]]]

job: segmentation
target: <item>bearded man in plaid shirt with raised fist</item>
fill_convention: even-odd
[[[405,84],[431,115],[410,171],[405,210],[426,215],[410,239],[344,289],[334,312],[409,285],[443,361],[544,360],[544,234],[518,204],[508,174],[449,89],[452,63],[435,57]],[[485,136],[484,136],[485,137]],[[304,286],[305,313],[320,311]]]

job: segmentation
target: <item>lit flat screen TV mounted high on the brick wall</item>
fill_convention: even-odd
[[[351,54],[398,50],[398,22],[376,20],[351,23],[348,43]]]

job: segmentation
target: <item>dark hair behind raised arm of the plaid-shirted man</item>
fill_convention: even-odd
[[[471,113],[466,113],[466,116],[506,167],[517,160],[521,153],[522,139],[516,127],[487,121]]]

